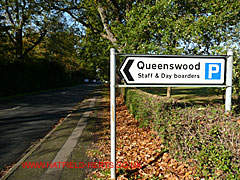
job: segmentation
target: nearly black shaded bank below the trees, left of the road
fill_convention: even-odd
[[[86,73],[86,71],[85,71]],[[84,71],[71,76],[63,64],[47,59],[0,62],[0,97],[83,82]]]

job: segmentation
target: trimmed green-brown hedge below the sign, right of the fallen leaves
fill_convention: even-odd
[[[221,104],[193,105],[136,89],[127,90],[126,104],[140,126],[159,132],[175,158],[197,163],[198,176],[240,178],[240,119]]]

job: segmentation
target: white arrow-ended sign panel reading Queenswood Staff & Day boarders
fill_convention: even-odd
[[[119,71],[127,84],[224,85],[226,56],[129,56]]]

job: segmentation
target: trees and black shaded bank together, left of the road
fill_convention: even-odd
[[[79,51],[81,31],[47,2],[0,1],[0,96],[95,79]]]

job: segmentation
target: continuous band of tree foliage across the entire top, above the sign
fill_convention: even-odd
[[[225,54],[226,46],[238,52],[240,42],[238,0],[1,0],[0,8],[1,58],[54,59],[70,74],[86,69],[105,80],[110,47],[120,53]]]

